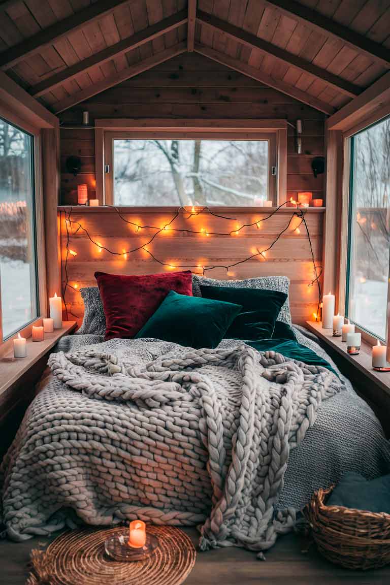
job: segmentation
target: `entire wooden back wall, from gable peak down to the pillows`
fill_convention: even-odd
[[[64,125],[81,123],[82,111],[87,109],[90,122],[95,118],[285,118],[295,124],[302,119],[302,152],[295,151],[294,129],[289,126],[288,132],[288,197],[296,197],[297,191],[313,191],[315,197],[325,198],[324,178],[313,177],[311,162],[315,156],[324,155],[324,119],[325,115],[306,105],[297,102],[284,94],[264,87],[259,82],[244,75],[220,66],[198,54],[183,54],[167,63],[161,64],[151,71],[123,82],[121,85],[107,90],[87,102],[79,104],[60,115]],[[68,174],[65,160],[70,155],[80,156],[82,169],[79,176]],[[61,129],[61,202],[71,205],[77,201],[75,188],[77,184],[89,185],[89,197],[95,193],[95,144],[94,130],[83,128]],[[263,224],[262,229],[247,230],[231,242],[230,238],[164,234],[158,243],[154,243],[153,252],[164,261],[172,264],[192,266],[193,264],[217,263],[226,264],[231,260],[240,260],[249,256],[256,246],[267,246],[287,224],[288,210],[278,214],[270,222]],[[236,223],[247,223],[261,217],[249,211],[235,212],[237,222],[223,225],[217,218],[207,218],[207,226],[213,231],[229,231]],[[133,216],[140,223],[157,225],[164,223],[171,214],[139,214]],[[87,226],[91,235],[104,242],[107,247],[122,252],[139,245],[144,233],[135,234],[134,230],[121,222],[118,216],[107,210],[87,209],[74,211],[73,218]],[[323,214],[320,211],[308,212],[309,229],[313,237],[313,248],[317,264],[321,264]],[[198,218],[199,219],[199,218]],[[206,218],[199,219],[199,222]],[[229,222],[228,222],[229,223]],[[180,238],[180,246],[178,246]],[[61,243],[62,257],[65,252],[64,210],[61,211]],[[111,273],[145,274],[160,272],[167,269],[151,261],[145,252],[132,254],[127,260],[113,257],[102,251],[97,252],[85,235],[78,232],[71,237],[70,247],[77,251],[76,257],[68,261],[68,276],[71,285],[79,288],[95,285],[95,270]],[[178,253],[180,250],[180,253]],[[168,269],[169,270],[169,269]],[[313,278],[313,266],[310,261],[309,243],[303,234],[293,232],[285,236],[275,245],[267,261],[253,260],[240,264],[233,270],[229,278],[247,278],[259,275],[284,274],[291,278],[291,308],[295,322],[303,322],[312,316],[317,308],[316,287],[308,287]],[[209,273],[214,278],[226,278],[225,270],[214,270]],[[65,280],[64,264],[62,273]],[[80,293],[73,288],[67,290],[67,300],[75,315],[82,317],[83,307]]]

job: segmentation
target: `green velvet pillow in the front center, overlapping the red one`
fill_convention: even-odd
[[[170,291],[136,335],[189,347],[216,347],[242,307],[232,302],[188,297]]]

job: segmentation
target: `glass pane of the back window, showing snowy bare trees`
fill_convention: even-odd
[[[116,205],[259,205],[267,140],[114,140]]]

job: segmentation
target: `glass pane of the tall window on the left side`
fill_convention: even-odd
[[[0,118],[2,339],[38,314],[33,156],[33,137]]]

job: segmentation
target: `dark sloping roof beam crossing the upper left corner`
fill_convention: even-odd
[[[2,51],[0,53],[0,69],[3,71],[10,69],[20,61],[23,61],[23,59],[26,59],[26,57],[38,53],[43,47],[51,45],[69,33],[80,30],[88,23],[110,14],[115,8],[122,4],[127,4],[127,2],[129,0],[111,0],[111,2],[98,0],[95,4],[91,4],[63,20],[59,20],[36,35],[24,39],[22,43]]]

